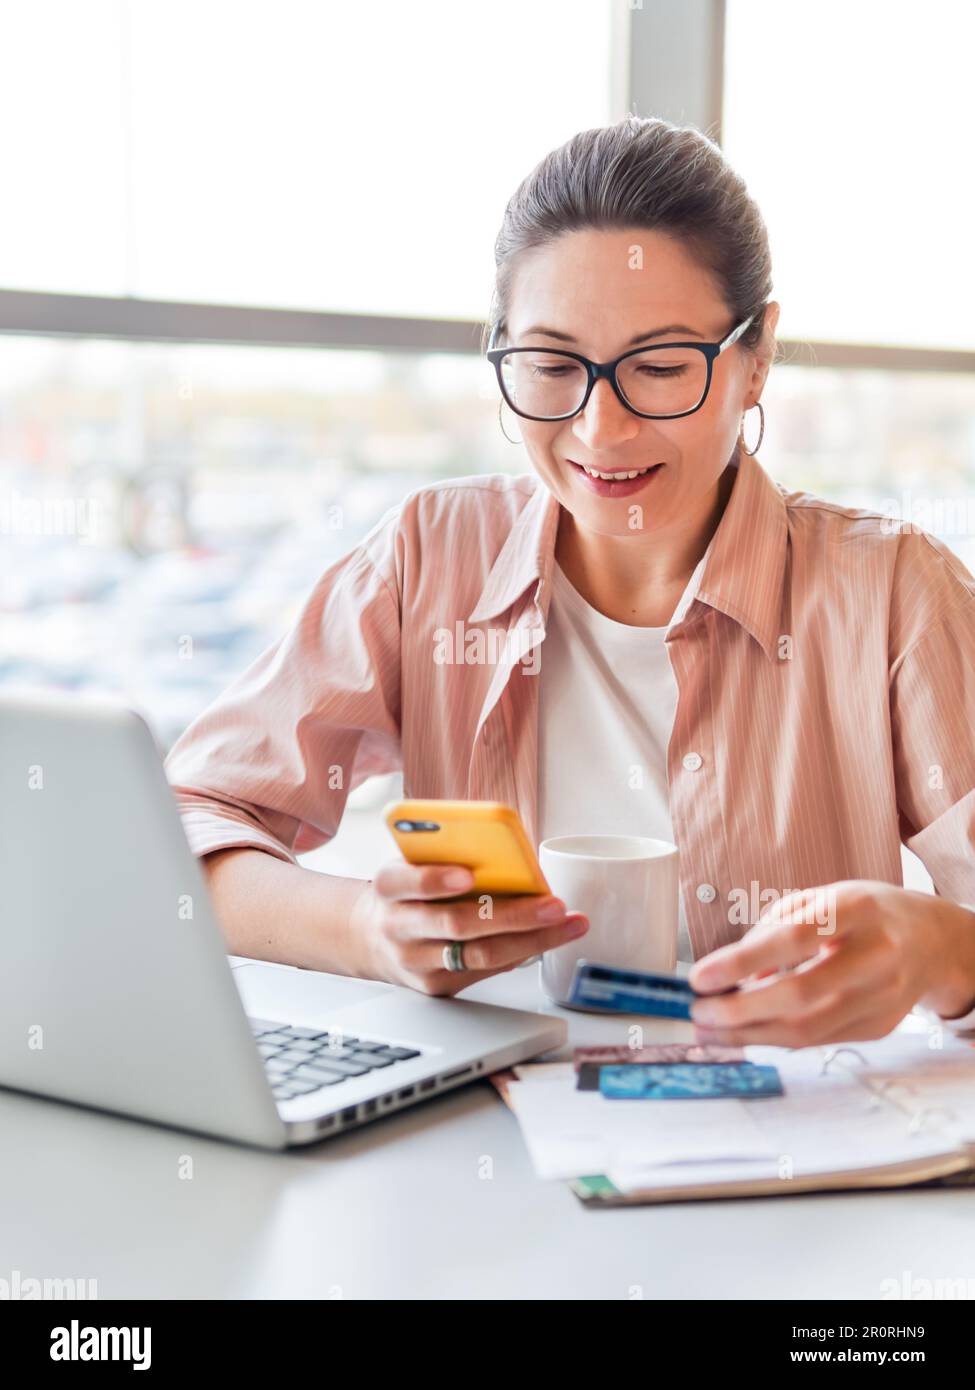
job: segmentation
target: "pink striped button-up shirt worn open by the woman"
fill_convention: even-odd
[[[391,507],[170,752],[195,853],[293,862],[335,834],[359,783],[401,769],[408,796],[509,802],[537,842],[558,520],[534,474],[452,478]],[[666,644],[695,956],[736,941],[741,903],[769,891],[901,884],[901,841],[939,894],[975,902],[975,580],[946,545],[787,492],[739,453]]]

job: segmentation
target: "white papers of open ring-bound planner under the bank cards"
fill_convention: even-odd
[[[620,1194],[766,1184],[899,1166],[914,1180],[969,1166],[975,1141],[975,1051],[917,1033],[828,1048],[748,1047],[779,1069],[784,1095],[743,1099],[611,1099],[579,1090],[572,1062],[517,1066],[498,1088],[517,1116],[542,1179],[601,1179]],[[930,1120],[930,1123],[928,1123]],[[932,1166],[933,1162],[933,1166]],[[911,1180],[907,1177],[905,1180]]]

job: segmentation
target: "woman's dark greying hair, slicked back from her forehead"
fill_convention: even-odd
[[[580,131],[552,150],[512,195],[494,245],[495,285],[481,350],[508,329],[510,286],[522,252],[581,228],[644,228],[675,238],[711,272],[727,304],[729,332],[754,349],[772,293],[765,221],[722,149],[691,125],[627,115]]]

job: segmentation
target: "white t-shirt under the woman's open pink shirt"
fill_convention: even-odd
[[[613,621],[555,563],[538,674],[540,841],[625,834],[673,842],[666,753],[677,682],[663,637],[694,599],[707,557],[666,627]],[[694,959],[683,901],[677,959]]]

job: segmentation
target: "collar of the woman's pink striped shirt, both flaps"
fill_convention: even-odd
[[[786,569],[789,523],[782,488],[758,460],[741,450],[725,513],[705,552],[697,592],[686,595],[727,614],[748,631],[771,659],[780,628],[782,585]],[[559,500],[535,478],[531,498],[522,509],[501,548],[469,623],[497,617],[537,581],[534,605],[544,626],[555,562]],[[691,588],[691,585],[688,585]],[[680,617],[684,614],[680,613]],[[679,614],[670,623],[676,627]]]

